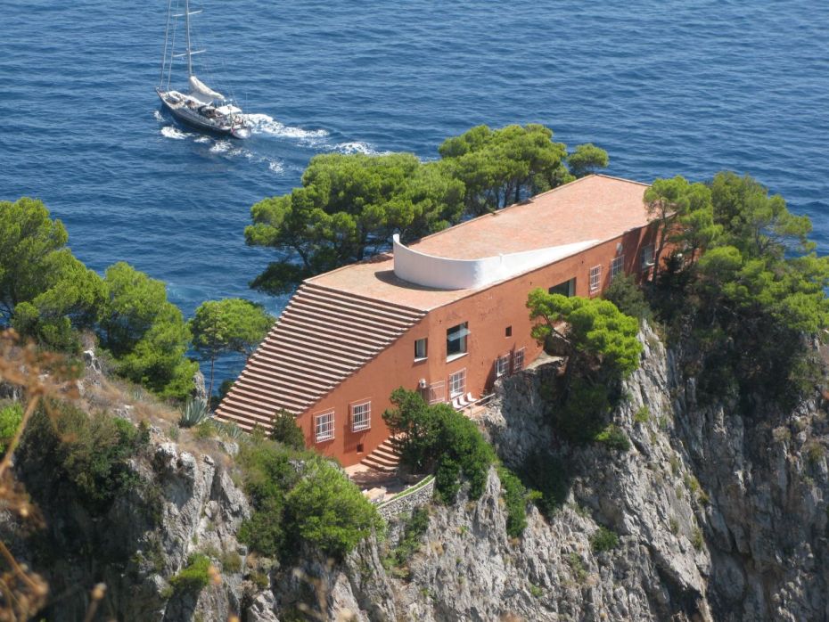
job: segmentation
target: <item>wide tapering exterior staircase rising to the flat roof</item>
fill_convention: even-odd
[[[250,356],[216,416],[270,429],[275,413],[307,411],[426,315],[303,283]]]

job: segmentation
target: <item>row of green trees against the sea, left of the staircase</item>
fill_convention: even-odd
[[[193,348],[212,365],[250,353],[273,318],[241,299],[204,303],[193,323],[167,299],[163,282],[124,262],[103,277],[72,255],[68,233],[41,201],[0,201],[0,328],[46,349],[77,355],[92,333],[116,373],[165,398],[193,390]],[[211,382],[212,389],[212,382]]]

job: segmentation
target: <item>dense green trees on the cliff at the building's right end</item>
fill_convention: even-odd
[[[669,262],[652,295],[661,319],[693,331],[702,390],[729,387],[752,408],[758,396],[797,398],[817,374],[804,336],[829,326],[829,259],[808,241],[808,217],[751,176],[719,173],[704,192],[676,180],[652,198],[680,206],[671,233],[680,249],[705,252]]]

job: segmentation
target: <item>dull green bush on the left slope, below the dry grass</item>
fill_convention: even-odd
[[[53,469],[55,479],[75,488],[76,497],[93,513],[105,512],[112,500],[138,481],[129,459],[148,441],[129,421],[107,413],[86,414],[72,405],[38,409],[21,447],[22,462]]]

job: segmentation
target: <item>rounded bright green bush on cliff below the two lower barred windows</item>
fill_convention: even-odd
[[[337,559],[383,526],[372,503],[322,458],[306,463],[302,479],[285,496],[285,510],[295,536]]]

